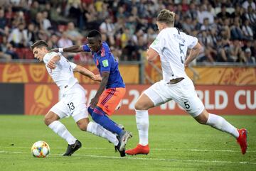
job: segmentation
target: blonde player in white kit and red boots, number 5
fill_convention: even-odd
[[[191,79],[186,75],[185,67],[194,60],[201,50],[198,39],[174,28],[175,13],[163,9],[156,18],[159,35],[149,46],[146,58],[149,62],[160,56],[163,79],[146,89],[135,104],[139,144],[136,148],[126,150],[128,155],[149,153],[149,114],[148,109],[174,100],[198,123],[212,126],[235,137],[242,154],[247,150],[247,131],[237,129],[223,117],[209,114],[198,98]],[[187,49],[191,49],[186,57]]]

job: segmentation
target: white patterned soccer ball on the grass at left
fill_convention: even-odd
[[[38,140],[33,143],[31,153],[35,158],[46,158],[50,153],[50,146],[43,140]]]

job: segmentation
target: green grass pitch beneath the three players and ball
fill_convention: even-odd
[[[127,148],[138,143],[134,116],[112,116],[132,131]],[[43,123],[43,116],[0,115],[0,170],[256,170],[256,116],[224,116],[238,128],[249,131],[245,155],[235,138],[201,126],[190,116],[150,116],[149,155],[119,158],[107,140],[78,129],[73,118],[61,120],[82,148],[62,157],[67,143]],[[45,140],[48,158],[33,158],[31,145]]]

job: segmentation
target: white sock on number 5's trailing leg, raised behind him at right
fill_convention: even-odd
[[[238,138],[239,136],[238,129],[231,125],[228,121],[225,120],[225,118],[221,116],[209,114],[206,125],[212,126],[213,128],[216,128],[220,131],[230,133],[230,135],[235,138]]]

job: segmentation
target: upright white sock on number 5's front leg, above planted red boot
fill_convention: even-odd
[[[136,111],[136,123],[139,131],[139,144],[148,145],[149,143],[149,112]]]

